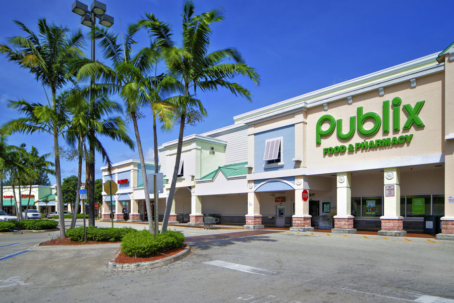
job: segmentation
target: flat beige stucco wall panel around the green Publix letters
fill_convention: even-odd
[[[396,84],[385,88],[384,96],[380,97],[378,89],[360,95],[353,96],[353,105],[348,105],[347,99],[341,99],[328,104],[328,111],[323,110],[323,106],[318,106],[308,110],[308,127],[307,127],[307,165],[308,167],[321,167],[338,164],[348,164],[356,162],[385,160],[390,158],[401,158],[407,156],[418,156],[442,153],[444,151],[444,142],[442,140],[442,125],[440,123],[444,111],[442,108],[442,78],[443,73],[429,75],[424,78],[417,79],[417,87],[411,88],[410,81]],[[316,144],[316,125],[318,119],[326,114],[334,117],[334,119],[343,119],[343,132],[348,131],[350,117],[356,116],[357,108],[363,107],[363,112],[375,112],[382,118],[383,101],[392,100],[394,97],[401,97],[402,104],[400,110],[401,129],[400,131],[392,131],[392,110],[390,109],[390,132],[383,133],[382,126],[372,136],[363,136],[355,131],[354,136],[349,140],[337,138],[334,130],[329,136],[322,136],[321,144]],[[412,107],[421,100],[425,100],[425,104],[419,113],[419,117],[425,124],[424,127],[415,127],[412,125],[410,129],[403,130],[403,126],[407,121],[407,115],[404,113],[403,105],[410,104]],[[370,129],[373,123],[366,121],[365,129]],[[328,128],[328,123],[322,125],[322,129]],[[356,128],[356,127],[355,127]],[[336,145],[355,144],[356,142],[382,139],[386,137],[413,134],[411,143],[403,143],[386,147],[376,147],[368,150],[355,150],[354,152],[346,151],[339,154],[323,155],[324,147],[334,147]]]

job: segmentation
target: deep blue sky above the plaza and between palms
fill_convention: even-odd
[[[90,6],[91,2],[82,2]],[[145,13],[173,25],[174,40],[180,42],[181,0],[104,0],[107,14],[115,18],[111,30],[120,33],[137,22]],[[71,0],[5,1],[0,11],[0,43],[8,37],[23,35],[12,20],[20,20],[36,30],[36,21],[48,21],[70,29],[89,29],[80,24],[80,17],[71,12]],[[356,78],[387,67],[442,51],[452,41],[452,10],[427,1],[267,1],[267,0],[199,0],[196,13],[221,7],[224,21],[213,25],[211,51],[236,47],[247,63],[261,76],[260,86],[246,79],[236,79],[253,94],[253,102],[235,97],[229,91],[198,93],[208,111],[205,121],[187,126],[185,135],[203,133],[233,124],[233,116],[252,111],[316,89]],[[120,18],[119,18],[120,17]],[[148,43],[145,31],[137,35],[134,50]],[[87,40],[87,44],[89,41]],[[89,48],[85,49],[89,56]],[[96,59],[102,60],[96,48]],[[162,70],[164,72],[164,70]],[[49,93],[49,91],[47,91]],[[43,87],[26,70],[0,55],[0,123],[18,117],[7,107],[8,99],[24,98],[29,102],[45,102]],[[112,100],[122,103],[118,96]],[[151,120],[147,115],[139,121],[146,158],[152,160]],[[128,126],[135,140],[132,124]],[[177,139],[178,127],[158,132],[158,143]],[[10,144],[25,142],[50,153],[52,138],[46,134],[10,136]],[[63,142],[63,140],[61,141]],[[138,159],[136,150],[108,139],[102,140],[113,162]],[[49,159],[53,161],[52,159]],[[96,159],[96,178],[105,165]],[[62,178],[77,174],[77,162],[62,161]],[[49,176],[52,183],[55,178]],[[84,178],[84,176],[83,176]]]

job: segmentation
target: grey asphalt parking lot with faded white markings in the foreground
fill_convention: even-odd
[[[0,260],[2,301],[454,302],[452,241],[178,229],[192,243],[186,259],[133,272],[106,269],[118,244],[30,247],[48,235],[2,235],[0,259],[28,250]]]

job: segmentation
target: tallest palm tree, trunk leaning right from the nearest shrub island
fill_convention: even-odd
[[[167,205],[162,222],[162,232],[167,229],[173,197],[177,183],[177,174],[183,145],[183,130],[189,111],[197,106],[204,114],[205,110],[192,96],[196,90],[215,91],[218,87],[228,88],[234,95],[242,95],[251,100],[248,89],[236,82],[231,82],[237,75],[248,77],[253,83],[259,84],[260,76],[254,68],[249,67],[241,54],[235,48],[226,48],[208,53],[210,46],[211,29],[213,22],[223,19],[222,12],[212,10],[201,15],[195,15],[193,2],[187,1],[183,9],[183,45],[178,47],[172,40],[171,28],[160,22],[154,15],[147,14],[147,19],[139,24],[149,29],[152,36],[162,41],[162,54],[169,74],[178,75],[184,87],[182,96],[174,97],[174,106],[178,109],[180,118],[180,133],[177,145],[172,184],[167,197]],[[224,63],[233,60],[234,63]],[[194,94],[191,95],[190,91]]]

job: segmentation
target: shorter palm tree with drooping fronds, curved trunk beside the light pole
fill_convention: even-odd
[[[91,95],[94,97],[93,101],[88,100],[90,90]],[[92,157],[91,153],[87,150],[86,142],[90,142],[90,140],[92,140],[92,145],[95,150],[101,154],[102,160],[107,163],[109,169],[111,167],[110,158],[96,134],[108,136],[113,140],[122,141],[131,149],[134,149],[134,142],[128,136],[125,122],[120,116],[105,118],[105,115],[107,114],[121,113],[122,108],[119,104],[110,101],[106,97],[105,91],[102,87],[101,89],[96,89],[96,87],[90,87],[90,89],[73,89],[69,97],[68,105],[71,108],[73,118],[70,128],[66,134],[66,139],[72,146],[76,145],[77,142],[77,154],[79,161],[76,204],[71,221],[71,229],[74,228],[76,224],[77,213],[79,212],[79,189],[82,183],[82,160],[85,158],[85,163],[87,164],[87,158]],[[89,135],[90,128],[95,130],[94,138],[91,138]]]

